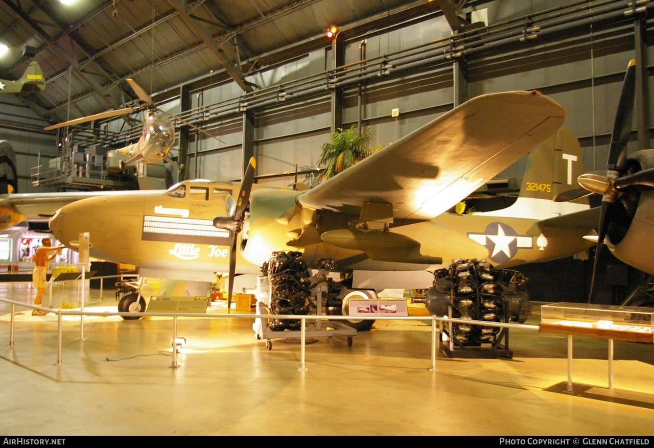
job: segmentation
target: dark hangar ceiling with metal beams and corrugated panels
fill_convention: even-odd
[[[249,73],[330,46],[324,29],[350,35],[444,14],[453,28],[465,0],[0,0],[1,40],[14,49],[0,78],[32,59],[46,90],[23,97],[50,122],[137,101],[126,84],[162,92],[213,73],[256,90]]]

